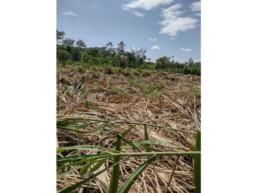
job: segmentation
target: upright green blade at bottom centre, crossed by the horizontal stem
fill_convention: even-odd
[[[117,142],[115,146],[115,150],[121,151],[121,137],[120,135],[116,135],[117,137]],[[119,163],[121,159],[121,156],[115,156],[113,163]],[[109,193],[116,193],[118,190],[118,185],[119,185],[119,175],[120,175],[120,164],[117,164],[113,167],[113,173],[111,177],[111,182],[110,182],[110,187],[109,187]]]

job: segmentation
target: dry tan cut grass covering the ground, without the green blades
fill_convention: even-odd
[[[132,123],[148,124],[149,140],[167,142],[178,145],[186,150],[194,150],[195,133],[200,129],[200,77],[153,73],[144,74],[140,78],[130,73],[129,76],[122,74],[104,74],[97,72],[92,74],[86,72],[81,74],[69,69],[58,68],[60,75],[59,94],[57,87],[58,120],[65,120],[72,115],[79,116],[85,123],[95,120],[126,120],[125,124],[117,129],[101,135],[108,129],[118,126],[112,123],[105,129],[85,135],[74,131],[57,129],[57,145],[100,145],[114,147],[116,144],[116,133],[121,133],[129,128]],[[141,73],[142,74],[142,73]],[[146,76],[147,75],[147,76]],[[97,76],[97,78],[96,78]],[[129,80],[139,80],[139,84],[131,84]],[[155,89],[154,85],[163,85],[162,89]],[[144,87],[154,88],[149,95],[144,95]],[[118,93],[117,93],[118,92]],[[58,97],[59,96],[59,97]],[[59,101],[58,101],[59,100]],[[86,108],[85,100],[89,101],[91,109]],[[61,116],[65,115],[65,116]],[[132,122],[132,123],[131,123]],[[80,128],[81,132],[93,131],[99,126],[97,124]],[[172,131],[172,132],[171,132]],[[136,125],[126,136],[130,142],[144,140],[144,126]],[[151,145],[162,151],[181,151],[176,147],[164,145]],[[132,148],[125,148],[122,152],[133,152]],[[85,150],[69,150],[58,154],[58,157],[68,155],[80,155],[95,153]],[[129,157],[120,164],[119,187],[126,181],[129,175],[147,157]],[[170,181],[177,156],[155,157],[154,163],[137,178],[129,193],[163,193]],[[107,161],[97,171],[112,164],[112,159]],[[75,169],[71,166],[69,169]],[[57,175],[66,172],[59,171]],[[57,180],[57,192],[64,190],[72,184],[80,182],[83,177],[79,175],[79,169]],[[97,172],[96,171],[96,172]],[[82,186],[86,192],[107,193],[111,179],[112,170],[107,170],[90,182]],[[172,193],[190,193],[193,189],[186,188],[193,185],[193,159],[192,156],[180,156],[175,167],[169,191]],[[77,190],[79,192],[79,189]]]

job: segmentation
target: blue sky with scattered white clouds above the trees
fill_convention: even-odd
[[[57,0],[57,28],[87,47],[147,48],[146,56],[200,60],[198,0]]]

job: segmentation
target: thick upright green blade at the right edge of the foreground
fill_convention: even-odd
[[[201,151],[201,132],[196,131],[196,151]],[[194,156],[194,193],[201,193],[201,155]]]

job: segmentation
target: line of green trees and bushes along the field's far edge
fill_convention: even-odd
[[[64,38],[65,32],[56,29],[57,63],[65,66],[67,64],[88,64],[88,65],[111,65],[121,68],[143,68],[148,69],[154,66],[159,70],[170,70],[184,74],[201,74],[201,62],[194,62],[192,58],[188,62],[175,62],[174,56],[161,56],[156,62],[147,58],[146,48],[135,48],[125,50],[125,43],[121,41],[116,47],[108,42],[101,48],[87,48],[83,40]]]

